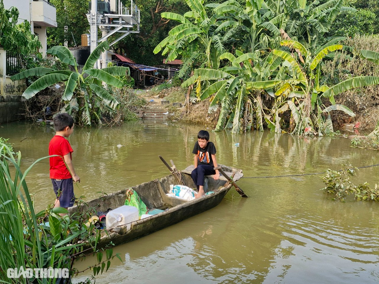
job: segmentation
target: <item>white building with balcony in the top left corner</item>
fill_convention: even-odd
[[[46,55],[46,27],[57,27],[56,9],[48,0],[3,0],[5,9],[15,6],[19,10],[19,22],[30,22],[31,32],[38,35],[43,56]]]

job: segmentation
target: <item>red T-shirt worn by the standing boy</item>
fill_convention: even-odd
[[[67,139],[63,136],[55,135],[49,143],[49,155],[60,155],[61,157],[51,157],[50,158],[50,178],[54,179],[65,179],[71,178],[71,174],[64,164],[63,156],[74,152],[71,145]]]

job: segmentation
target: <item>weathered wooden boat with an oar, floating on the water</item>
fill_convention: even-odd
[[[240,169],[224,165],[220,166],[228,176],[232,176],[232,173],[235,173],[233,181],[237,181],[243,176],[242,170]],[[191,188],[194,187],[191,178],[193,168],[194,166],[192,165],[180,172],[184,184]],[[101,232],[101,238],[97,243],[97,248],[106,248],[110,242],[115,245],[130,242],[139,237],[146,236],[165,227],[174,225],[186,218],[207,211],[208,209],[217,206],[232,187],[232,184],[227,182],[227,179],[224,176],[220,176],[218,180],[213,179],[211,176],[206,176],[204,183],[205,192],[214,191],[215,193],[205,195],[204,197],[195,200],[186,201],[166,195],[166,193],[169,193],[171,184],[178,184],[173,173],[163,178],[132,187],[132,189],[138,193],[141,200],[146,204],[147,208],[157,208],[164,211],[130,223],[129,230],[127,229],[128,224],[110,230],[103,229]],[[96,215],[96,211],[105,212],[108,208],[116,209],[124,205],[126,191],[127,189],[122,189],[109,195],[104,195],[86,202],[85,205],[80,208],[77,206],[69,208],[69,214],[78,210],[81,212],[89,210],[93,211]],[[85,245],[85,249],[89,247],[91,247],[90,244]],[[91,253],[91,250],[88,251]]]

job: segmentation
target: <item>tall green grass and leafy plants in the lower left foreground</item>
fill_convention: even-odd
[[[83,245],[96,243],[100,231],[94,225],[86,227],[84,222],[89,212],[74,214],[70,218],[60,213],[67,213],[64,208],[34,211],[34,204],[26,183],[26,176],[32,167],[42,159],[35,161],[24,173],[20,170],[21,153],[17,160],[5,144],[0,144],[0,265],[6,268],[66,268],[69,275],[76,272],[73,268],[75,259],[83,255]],[[3,154],[5,149],[5,154]],[[12,166],[12,170],[9,166]],[[49,226],[44,219],[49,219]],[[97,252],[96,245],[93,249]],[[88,253],[88,252],[85,252]],[[113,259],[110,251],[106,259],[98,257],[97,273],[103,263]],[[115,256],[119,257],[119,256]],[[99,268],[97,268],[99,267]],[[92,267],[91,267],[92,268]],[[108,270],[109,266],[107,266]],[[103,270],[101,270],[103,272]],[[6,283],[56,283],[56,278],[8,278],[6,269],[0,269],[1,282]]]

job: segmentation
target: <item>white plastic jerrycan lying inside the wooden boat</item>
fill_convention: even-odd
[[[130,223],[138,220],[138,209],[134,206],[123,205],[106,214],[105,225],[111,229],[127,224],[127,231],[130,230]]]

